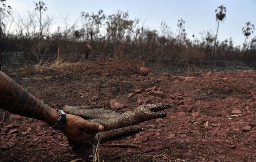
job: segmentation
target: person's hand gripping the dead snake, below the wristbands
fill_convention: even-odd
[[[90,130],[90,132],[83,132],[84,129]],[[67,137],[69,144],[88,145],[89,142],[87,140],[103,130],[103,125],[88,122],[79,116],[67,114],[66,122],[60,131]]]

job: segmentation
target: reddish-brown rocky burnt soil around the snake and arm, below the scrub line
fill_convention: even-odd
[[[3,72],[53,108],[105,103],[111,109],[112,99],[125,105],[115,109],[119,112],[144,103],[172,105],[166,118],[101,142],[101,161],[256,161],[256,72],[149,71],[140,76],[136,68],[96,61],[39,71],[5,65]],[[12,114],[1,130],[0,162],[83,161],[88,155],[90,147],[72,150],[61,132],[41,121]]]

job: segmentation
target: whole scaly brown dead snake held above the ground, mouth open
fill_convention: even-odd
[[[166,117],[164,109],[169,108],[169,104],[157,103],[140,105],[134,111],[119,114],[115,111],[86,107],[72,107],[65,105],[63,110],[69,114],[83,117],[90,122],[96,122],[104,126],[104,132],[99,132],[101,140],[107,140],[115,136],[136,132],[139,127],[136,124],[141,122]]]

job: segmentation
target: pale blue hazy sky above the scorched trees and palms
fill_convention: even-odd
[[[188,38],[192,34],[201,38],[199,32],[212,30],[216,33],[215,9],[224,5],[227,8],[226,19],[220,22],[218,40],[232,37],[234,45],[243,45],[245,36],[242,28],[251,21],[256,25],[256,0],[43,0],[48,8],[46,14],[54,17],[52,28],[57,29],[63,22],[61,17],[68,14],[72,22],[79,18],[82,11],[96,13],[100,9],[106,15],[118,10],[128,11],[131,19],[139,18],[141,24],[149,29],[160,29],[165,21],[175,34],[178,33],[177,21],[185,20]],[[18,12],[35,11],[34,0],[7,0],[7,5]],[[249,40],[256,36],[256,31]]]

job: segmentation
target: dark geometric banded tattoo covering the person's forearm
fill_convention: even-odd
[[[42,121],[47,121],[52,110],[1,71],[0,108]]]

